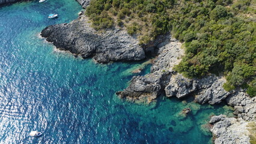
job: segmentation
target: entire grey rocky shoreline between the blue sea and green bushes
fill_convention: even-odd
[[[90,1],[78,0],[82,7]],[[225,78],[209,76],[203,79],[187,79],[172,68],[184,55],[181,43],[165,35],[147,46],[140,46],[136,37],[131,37],[124,29],[113,28],[97,32],[84,15],[71,23],[47,26],[41,35],[62,50],[69,50],[83,58],[93,57],[95,61],[138,61],[148,52],[157,52],[151,72],[145,76],[135,76],[130,85],[117,95],[129,101],[150,103],[160,94],[166,97],[195,97],[200,104],[218,104],[222,101],[234,107],[237,118],[224,115],[213,116],[210,120],[215,143],[249,143],[246,124],[256,121],[256,98],[249,97],[243,89],[227,92],[222,88]],[[164,38],[163,38],[164,37]]]

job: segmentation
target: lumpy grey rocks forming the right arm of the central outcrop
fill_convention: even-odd
[[[175,96],[183,98],[187,95],[195,95],[195,101],[200,104],[218,104],[224,100],[229,92],[222,88],[225,79],[210,75],[203,79],[187,79],[181,74],[171,77],[171,80],[165,88],[167,97]]]

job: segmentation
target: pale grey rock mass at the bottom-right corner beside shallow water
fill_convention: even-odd
[[[227,118],[225,115],[213,116],[210,120],[215,144],[249,144],[248,122],[242,118]]]

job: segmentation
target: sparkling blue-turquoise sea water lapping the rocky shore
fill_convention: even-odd
[[[95,64],[38,37],[45,26],[70,22],[80,10],[73,0],[0,7],[0,143],[211,142],[204,124],[211,115],[231,115],[230,107],[164,97],[147,106],[127,103],[114,93],[127,86],[139,62]],[[59,18],[47,19],[49,13]],[[192,113],[184,118],[186,107]],[[29,137],[31,130],[43,136]]]

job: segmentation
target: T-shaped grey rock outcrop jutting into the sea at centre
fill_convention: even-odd
[[[180,62],[183,50],[181,43],[169,38],[158,44],[159,56],[151,67],[151,73],[145,76],[136,76],[124,91],[117,92],[121,98],[140,100],[147,94],[152,98],[164,93],[166,97],[183,98],[195,95],[195,101],[204,104],[218,104],[230,95],[222,88],[225,79],[210,75],[203,79],[188,79],[172,70]]]

